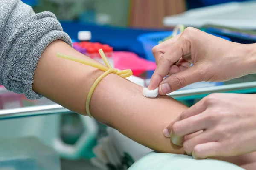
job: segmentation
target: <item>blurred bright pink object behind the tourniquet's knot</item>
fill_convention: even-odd
[[[157,67],[155,62],[140,58],[137,54],[126,51],[113,52],[115,68],[120,70],[131,69],[134,76],[139,76],[145,71],[154,71]]]

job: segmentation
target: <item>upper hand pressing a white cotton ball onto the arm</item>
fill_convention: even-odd
[[[255,73],[254,49],[256,45],[230,42],[186,28],[153,48],[157,68],[148,88],[159,87],[159,94],[165,95],[194,82],[227,81]],[[166,75],[169,77],[163,80]]]

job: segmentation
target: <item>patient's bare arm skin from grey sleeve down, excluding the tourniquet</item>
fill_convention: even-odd
[[[88,91],[103,72],[58,58],[55,56],[57,52],[96,62],[75,51],[65,42],[52,42],[38,61],[33,90],[67,109],[86,115],[85,102]],[[116,74],[109,74],[99,82],[93,93],[90,102],[92,116],[153,150],[184,154],[183,148],[173,145],[162,132],[163,128],[187,107],[169,96],[150,99],[144,97],[142,92],[143,87]],[[255,154],[250,155],[252,156],[256,158]],[[240,156],[239,159],[243,157]],[[233,160],[236,159],[227,161],[236,163]],[[251,164],[251,161],[239,162],[239,165],[244,164]]]

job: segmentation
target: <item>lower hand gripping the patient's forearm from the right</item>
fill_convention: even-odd
[[[195,159],[251,153],[256,151],[255,99],[256,94],[210,94],[163,133]]]

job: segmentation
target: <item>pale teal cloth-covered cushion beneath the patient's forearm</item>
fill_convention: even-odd
[[[234,164],[214,159],[195,160],[191,156],[148,153],[128,170],[244,170]]]

